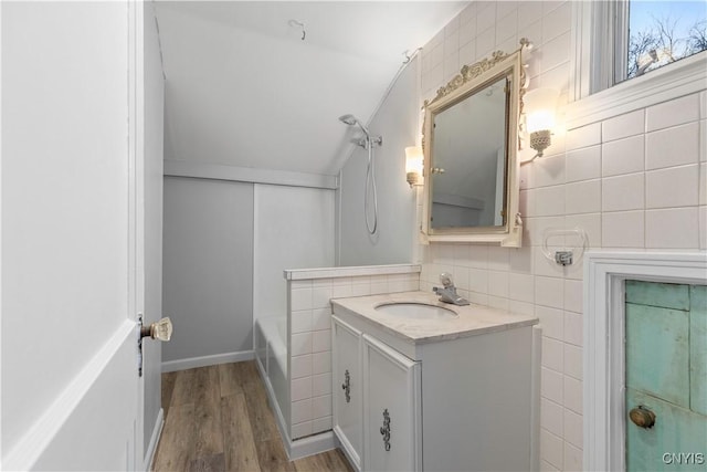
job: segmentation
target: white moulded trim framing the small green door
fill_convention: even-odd
[[[707,253],[590,251],[584,264],[583,469],[624,470],[624,281],[707,284]]]

